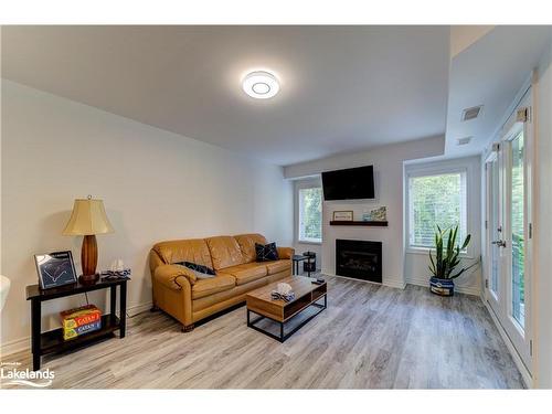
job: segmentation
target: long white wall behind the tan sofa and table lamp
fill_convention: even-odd
[[[1,272],[13,283],[3,352],[29,346],[33,254],[72,250],[79,261],[82,237],[61,235],[75,198],[104,200],[115,233],[98,236],[99,268],[115,258],[132,268],[135,310],[151,300],[147,259],[158,241],[259,232],[293,242],[293,184],[280,167],[12,82],[2,85],[2,120]],[[43,329],[83,300],[47,304]]]

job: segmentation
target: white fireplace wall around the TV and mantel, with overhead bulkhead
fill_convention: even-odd
[[[325,201],[322,206],[322,262],[326,274],[336,273],[336,238],[381,241],[383,243],[383,284],[403,287],[403,162],[443,155],[444,137],[378,147],[372,150],[333,156],[284,168],[286,178],[300,178],[322,171],[373,164],[375,199]],[[388,208],[389,227],[330,226],[332,212],[353,210],[360,219],[364,209]]]

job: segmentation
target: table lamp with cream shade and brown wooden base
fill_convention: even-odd
[[[112,233],[113,231],[102,200],[95,200],[92,195],[88,195],[86,200],[75,200],[71,219],[63,231],[63,235],[84,235],[81,250],[83,275],[78,277],[81,283],[95,283],[99,278],[96,275],[98,264],[96,234]]]

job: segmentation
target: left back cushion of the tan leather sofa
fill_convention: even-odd
[[[161,259],[172,265],[174,263],[191,262],[197,265],[213,268],[208,244],[203,238],[172,240],[157,243],[153,251]]]

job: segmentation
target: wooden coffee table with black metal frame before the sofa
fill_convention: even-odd
[[[314,279],[310,277],[290,276],[250,291],[245,296],[247,306],[247,327],[263,332],[280,342],[284,342],[328,306],[326,282],[321,285],[316,285],[312,283],[312,280]],[[272,298],[270,293],[273,290],[276,290],[276,287],[279,283],[286,283],[291,286],[291,289],[295,293],[294,300],[285,301],[283,299]],[[318,304],[318,301],[322,298],[323,305]],[[318,308],[318,311],[301,321],[289,332],[284,333],[284,325],[310,306]],[[259,317],[252,320],[250,315],[251,312],[257,314],[259,315]],[[279,336],[274,335],[257,326],[257,323],[265,318],[270,319],[279,325]]]

